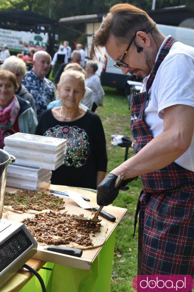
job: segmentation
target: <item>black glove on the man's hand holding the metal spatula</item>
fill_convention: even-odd
[[[109,173],[103,181],[97,186],[97,204],[99,206],[107,206],[111,204],[119,194],[119,190],[127,190],[129,187],[126,185],[134,179],[137,179],[137,176],[130,179],[125,179],[121,184],[115,189],[115,181],[118,176],[115,176],[113,173]]]

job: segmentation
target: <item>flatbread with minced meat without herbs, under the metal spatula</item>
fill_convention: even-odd
[[[79,216],[83,217],[83,214]],[[22,222],[30,230],[38,245],[60,245],[89,249],[102,245],[106,239],[107,223],[83,223],[74,220],[74,214],[54,211],[36,214]]]

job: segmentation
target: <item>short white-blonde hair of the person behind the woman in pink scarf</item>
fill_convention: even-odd
[[[8,71],[16,71],[16,72],[19,72],[22,76],[24,76],[26,72],[26,65],[22,59],[16,56],[10,56],[7,59],[5,59],[0,69],[8,70]]]

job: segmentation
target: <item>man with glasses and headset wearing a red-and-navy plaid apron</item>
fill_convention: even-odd
[[[135,156],[100,183],[97,203],[112,203],[141,176],[138,274],[194,276],[194,48],[164,36],[146,12],[127,3],[103,18],[93,56],[95,47],[105,47],[124,74],[143,78],[142,92],[132,97]],[[114,189],[121,173],[124,181]]]

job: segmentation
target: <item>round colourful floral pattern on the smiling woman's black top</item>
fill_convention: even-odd
[[[44,136],[67,139],[67,150],[64,164],[67,166],[81,167],[89,156],[88,135],[85,130],[76,126],[55,126],[49,128]]]

